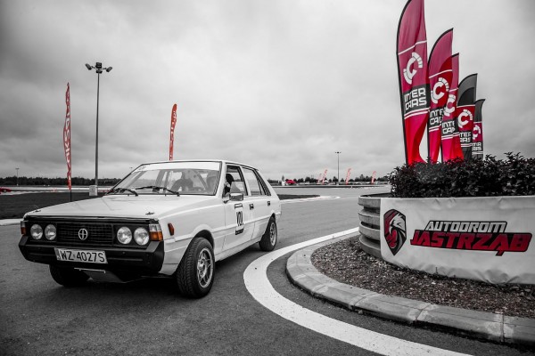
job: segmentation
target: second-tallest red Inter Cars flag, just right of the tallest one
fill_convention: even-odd
[[[429,56],[429,87],[431,88],[431,102],[429,122],[427,124],[427,148],[431,162],[439,160],[441,122],[444,107],[448,101],[449,86],[451,84],[451,43],[453,29],[440,35],[433,45]]]

